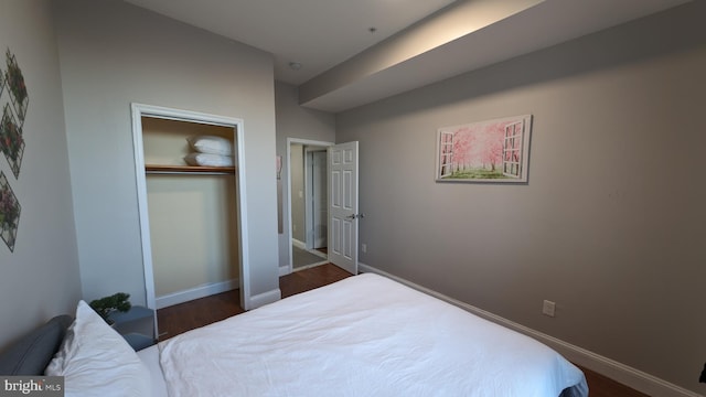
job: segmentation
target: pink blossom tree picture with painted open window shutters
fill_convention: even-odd
[[[526,183],[532,115],[461,126],[437,133],[437,182]]]

